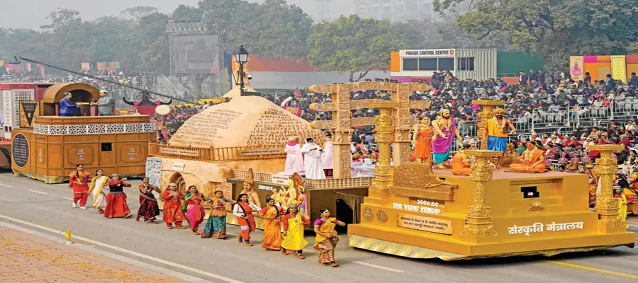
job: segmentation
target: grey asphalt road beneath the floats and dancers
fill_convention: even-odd
[[[136,186],[140,181],[131,183]],[[137,211],[137,188],[127,188],[125,192],[130,209]],[[74,209],[71,197],[67,184],[46,185],[5,171],[0,173],[0,224],[38,230],[60,241],[63,238],[52,231],[66,231],[70,226],[74,236],[90,240],[86,245],[191,275],[201,282],[638,282],[637,248],[620,247],[553,258],[444,262],[355,250],[349,248],[342,236],[336,253],[341,267],[330,268],[318,264],[317,253],[310,245],[304,250],[306,260],[260,248],[261,231],[254,233],[255,246],[245,247],[235,240],[239,233],[237,226],[228,226],[228,240],[201,239],[189,230],[166,229],[164,224],[145,224],[133,218],[105,219],[94,209]],[[638,217],[630,218],[629,224],[631,231],[638,231]],[[314,243],[313,236],[307,236],[306,240]],[[83,240],[74,241],[83,244]]]

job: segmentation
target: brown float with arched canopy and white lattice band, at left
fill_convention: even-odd
[[[62,117],[60,100],[72,93],[75,117]],[[78,164],[87,171],[141,176],[155,128],[147,115],[97,116],[91,102],[99,90],[84,83],[57,83],[42,100],[22,101],[20,129],[11,132],[11,169],[16,175],[62,183]]]

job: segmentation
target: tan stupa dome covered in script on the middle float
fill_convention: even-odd
[[[240,96],[228,103],[212,105],[179,127],[169,141],[171,146],[282,147],[290,137],[313,137],[323,144],[325,137],[301,117],[259,96]]]

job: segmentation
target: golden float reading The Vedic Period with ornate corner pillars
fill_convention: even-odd
[[[491,109],[503,101],[474,103],[482,105],[479,115],[484,122],[493,117]],[[388,116],[381,111],[376,125],[381,165],[361,205],[361,223],[348,227],[350,246],[442,260],[551,256],[634,246],[636,233],[627,231],[619,214],[619,200],[612,195],[617,172],[612,151],[624,146],[591,148],[602,156],[596,160],[602,195],[593,212],[588,205],[588,175],[495,171],[493,163],[501,156],[499,151],[464,151],[476,160],[469,176],[448,170],[433,172],[429,164],[390,166],[388,143],[395,139],[395,125],[388,122]]]

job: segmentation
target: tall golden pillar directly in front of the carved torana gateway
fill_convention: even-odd
[[[370,188],[369,197],[387,199],[390,197],[388,187],[392,185],[393,166],[390,163],[390,145],[394,142],[395,125],[392,122],[392,109],[398,103],[371,103],[371,108],[379,108],[376,117],[374,140],[379,144],[379,166],[374,170],[374,183]]]

